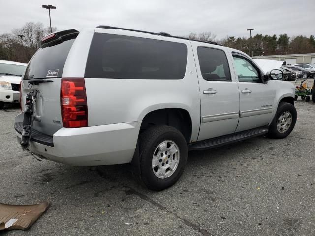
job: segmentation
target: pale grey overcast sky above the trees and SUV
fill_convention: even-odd
[[[217,39],[253,34],[315,35],[315,0],[0,0],[0,34],[42,22],[58,30],[110,25],[173,35],[210,31]]]

